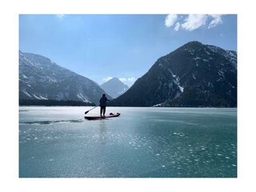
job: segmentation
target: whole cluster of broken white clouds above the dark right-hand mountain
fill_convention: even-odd
[[[166,27],[174,26],[174,30],[197,30],[207,27],[213,28],[222,24],[222,14],[189,14],[186,17],[178,14],[168,14],[166,16]]]

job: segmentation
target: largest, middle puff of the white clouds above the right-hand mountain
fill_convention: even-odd
[[[185,22],[182,23],[182,28],[184,30],[196,30],[202,26],[206,26],[207,15],[206,14],[189,14],[185,18]]]

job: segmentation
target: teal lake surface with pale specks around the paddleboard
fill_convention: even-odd
[[[237,109],[90,108],[19,107],[19,177],[237,177]]]

